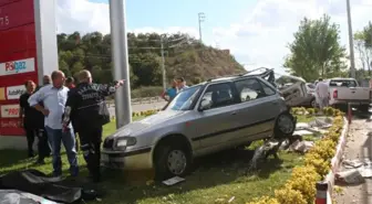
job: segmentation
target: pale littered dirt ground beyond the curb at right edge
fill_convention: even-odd
[[[372,120],[369,117],[358,117],[352,120],[344,153],[344,160],[372,159]],[[342,170],[342,167],[341,167]],[[335,187],[337,204],[372,204],[372,179],[358,185]]]

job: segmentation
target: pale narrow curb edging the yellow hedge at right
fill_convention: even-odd
[[[344,148],[347,144],[350,124],[345,117],[343,117],[343,122],[344,124],[343,124],[341,136],[339,138],[337,149],[335,149],[335,153],[331,160],[331,170],[329,171],[329,173],[326,175],[326,179],[324,179],[324,183],[328,183],[327,203],[332,203],[333,186],[334,186],[334,179],[335,179],[334,175],[339,171],[342,155],[344,152]]]

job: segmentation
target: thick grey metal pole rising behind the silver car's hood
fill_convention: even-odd
[[[125,0],[110,0],[111,46],[114,79],[125,79],[115,93],[116,128],[132,122],[131,82],[125,32]]]

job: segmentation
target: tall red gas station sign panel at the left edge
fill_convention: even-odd
[[[9,90],[38,79],[33,3],[0,0],[0,87]],[[24,136],[18,100],[16,95],[0,100],[0,136]]]

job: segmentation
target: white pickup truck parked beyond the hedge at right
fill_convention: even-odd
[[[345,107],[350,104],[360,111],[368,112],[372,99],[371,88],[360,87],[354,78],[331,78],[329,85],[329,104],[335,107]]]

